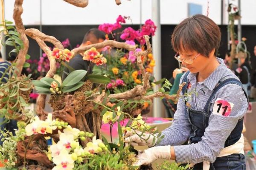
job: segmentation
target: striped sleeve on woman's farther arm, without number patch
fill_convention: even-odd
[[[184,75],[180,78],[182,82]],[[180,97],[177,103],[177,111],[174,114],[174,120],[170,127],[162,131],[164,138],[157,146],[180,145],[187,141],[191,130],[191,125],[186,116],[185,103]]]

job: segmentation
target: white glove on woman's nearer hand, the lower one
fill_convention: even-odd
[[[156,146],[144,150],[144,153],[139,154],[138,161],[134,166],[150,164],[157,159],[171,159],[171,146]]]

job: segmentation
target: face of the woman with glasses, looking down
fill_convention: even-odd
[[[185,65],[191,73],[198,73],[204,71],[207,66],[212,62],[212,57],[215,58],[215,56],[213,55],[214,50],[209,54],[209,57],[204,57],[197,51],[186,51],[179,53],[181,59],[191,59],[193,61],[192,64],[188,64],[182,61],[182,64]]]

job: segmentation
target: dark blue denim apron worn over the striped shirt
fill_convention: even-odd
[[[186,85],[184,85],[182,89],[183,94],[186,93],[186,90],[189,84],[188,83],[189,80],[187,79],[188,74],[189,74],[189,71],[186,72],[182,81],[182,82],[186,82]],[[188,144],[198,143],[202,140],[201,138],[202,136],[204,136],[205,129],[208,126],[209,116],[212,113],[209,110],[211,101],[215,97],[215,94],[218,92],[218,90],[227,84],[236,84],[241,86],[241,88],[243,88],[243,85],[239,80],[229,78],[222,82],[219,82],[217,86],[213,89],[212,94],[207,100],[203,111],[196,111],[186,106],[186,114],[188,116],[190,124],[192,125],[192,130],[190,131]],[[244,91],[244,88],[243,88],[243,91]],[[245,95],[247,96],[246,93]],[[186,102],[185,102],[185,105],[186,105]],[[232,144],[235,144],[240,139],[242,130],[243,130],[243,118],[238,121],[234,130],[230,133],[230,136],[228,136],[224,147],[228,147]],[[202,162],[195,164],[195,166],[193,167],[193,170],[202,170],[202,169],[203,169]],[[217,157],[215,162],[210,163],[210,170],[245,170],[245,169],[246,169],[245,157],[243,154],[232,154],[229,156]]]

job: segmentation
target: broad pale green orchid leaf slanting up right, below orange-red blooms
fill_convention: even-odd
[[[87,71],[85,70],[72,71],[62,82],[62,87],[75,85],[76,83],[81,81],[81,79],[85,76],[86,73]]]

